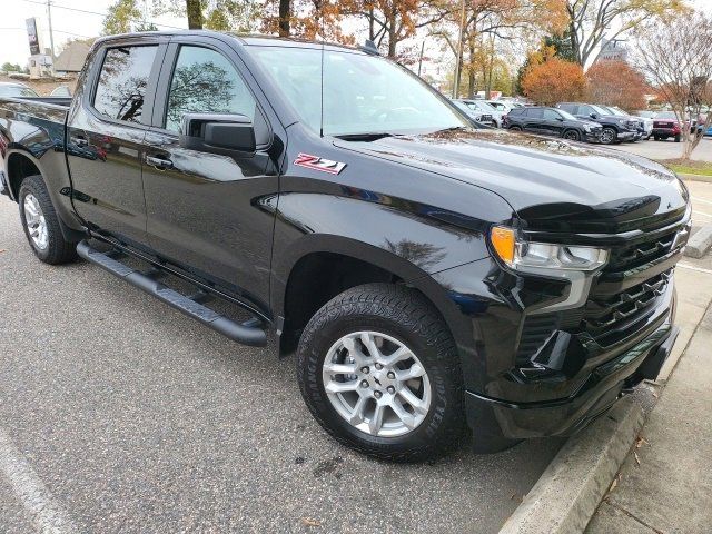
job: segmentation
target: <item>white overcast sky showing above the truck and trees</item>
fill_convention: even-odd
[[[116,0],[51,0],[55,50],[71,38],[96,37],[108,7]],[[712,0],[689,0],[712,14]],[[49,48],[47,0],[2,0],[0,18],[0,65],[10,61],[24,66],[30,55],[24,20],[37,17],[42,46]],[[90,11],[90,12],[89,12]],[[185,19],[171,16],[148,17],[159,29],[187,28]],[[166,24],[166,26],[162,26]],[[427,53],[427,52],[426,52]]]

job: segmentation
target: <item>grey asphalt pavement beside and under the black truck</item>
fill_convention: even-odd
[[[32,255],[0,197],[0,532],[496,532],[561,439],[421,465],[338,445],[294,358]],[[565,498],[565,497],[564,497]]]

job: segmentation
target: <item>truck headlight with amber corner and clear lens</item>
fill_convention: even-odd
[[[517,270],[595,270],[605,265],[609,251],[603,248],[517,239],[514,229],[495,226],[490,240],[497,257]]]

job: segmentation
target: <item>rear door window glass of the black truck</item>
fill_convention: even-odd
[[[93,108],[110,119],[141,122],[157,46],[110,48],[103,58]]]

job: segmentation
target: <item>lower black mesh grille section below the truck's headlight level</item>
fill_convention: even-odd
[[[672,275],[673,269],[668,269],[615,295],[595,296],[594,291],[584,310],[584,330],[602,345],[614,343],[621,330],[634,329],[635,323],[655,310]]]

